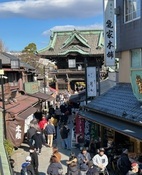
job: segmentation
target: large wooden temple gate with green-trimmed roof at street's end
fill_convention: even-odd
[[[103,43],[103,30],[53,31],[38,54],[55,61],[57,69],[49,69],[49,75],[54,75],[56,90],[75,90],[75,83],[85,80],[85,64],[101,67]]]

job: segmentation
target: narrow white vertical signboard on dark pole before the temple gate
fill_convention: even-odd
[[[87,97],[96,96],[96,67],[87,67]]]

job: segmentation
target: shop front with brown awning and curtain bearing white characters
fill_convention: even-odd
[[[16,102],[6,105],[6,136],[15,147],[23,142],[29,123],[37,111],[34,105],[38,101],[38,98],[19,94]]]

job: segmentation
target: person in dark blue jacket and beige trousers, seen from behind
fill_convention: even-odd
[[[47,145],[51,148],[53,145],[53,137],[55,135],[55,127],[52,124],[51,119],[49,119],[48,124],[45,127],[45,133],[47,135]]]

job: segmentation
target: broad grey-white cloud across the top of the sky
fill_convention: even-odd
[[[13,0],[0,3],[0,18],[90,17],[102,14],[102,0]]]

